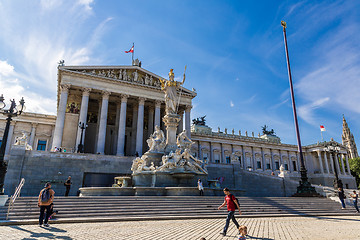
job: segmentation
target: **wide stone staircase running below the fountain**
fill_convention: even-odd
[[[226,208],[217,210],[223,201],[209,196],[56,197],[59,214],[51,223],[225,218]],[[355,215],[353,207],[341,210],[340,203],[327,198],[239,197],[239,202],[241,217]],[[6,213],[7,205],[0,208],[0,225],[36,224],[37,197],[18,198],[8,221]]]

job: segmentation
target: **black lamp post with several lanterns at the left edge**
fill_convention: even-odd
[[[15,100],[10,100],[10,108],[5,110],[6,104],[4,103],[4,97],[1,94],[0,96],[0,113],[7,116],[6,118],[6,126],[4,135],[1,141],[1,147],[0,147],[0,195],[4,195],[4,181],[5,181],[5,174],[7,171],[7,163],[4,161],[5,156],[5,148],[7,143],[7,138],[9,135],[9,128],[10,128],[10,122],[13,117],[16,117],[20,115],[25,110],[25,101],[24,98],[21,98],[20,104],[16,106]]]

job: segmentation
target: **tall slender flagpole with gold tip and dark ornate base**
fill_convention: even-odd
[[[300,185],[297,187],[297,193],[295,196],[314,196],[316,195],[315,188],[311,186],[310,182],[308,181],[307,177],[307,170],[305,168],[304,163],[304,156],[302,153],[301,147],[301,140],[300,140],[300,132],[299,132],[299,124],[297,120],[297,113],[296,113],[296,106],[295,106],[295,97],[294,97],[294,89],[292,84],[292,77],[291,77],[291,69],[290,69],[290,60],[289,60],[289,52],[287,46],[287,39],[286,39],[286,22],[281,21],[281,26],[283,27],[284,31],[284,43],[285,43],[285,53],[286,53],[286,62],[287,62],[287,69],[289,74],[289,83],[290,83],[290,93],[291,93],[291,101],[292,107],[294,112],[294,123],[295,123],[295,131],[296,131],[296,139],[298,145],[298,152],[300,154],[300,175],[301,181]]]

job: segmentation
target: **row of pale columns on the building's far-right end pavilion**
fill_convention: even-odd
[[[330,174],[329,163],[328,163],[328,158],[327,158],[328,154],[326,152],[317,151],[317,155],[318,155],[318,160],[319,160],[320,172],[322,174],[324,174],[325,170],[326,170],[326,173]],[[322,155],[324,155],[325,167],[324,167],[324,164],[323,164]],[[335,155],[335,156],[337,156],[337,155]],[[329,157],[330,157],[329,161],[330,161],[331,171],[334,172],[333,154],[329,154]],[[339,174],[351,175],[350,166],[349,166],[349,159],[348,159],[347,154],[340,154],[340,160],[342,162],[341,168],[340,168],[340,164],[339,164],[338,159],[335,159],[335,167],[336,167],[337,172]],[[345,160],[345,163],[344,163],[344,160]],[[345,164],[346,164],[347,172],[345,171]]]

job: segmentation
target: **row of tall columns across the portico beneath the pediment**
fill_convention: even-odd
[[[52,148],[61,147],[69,89],[70,89],[69,84],[63,84],[60,87],[61,90],[60,101],[59,101],[59,108],[58,108],[56,125],[54,130]],[[90,92],[91,92],[90,88],[83,88],[83,95],[82,95],[81,108],[79,114],[79,123],[86,123]],[[107,126],[107,115],[108,115],[110,94],[111,93],[108,91],[102,92],[101,110],[100,110],[100,118],[99,118],[99,132],[98,132],[98,139],[96,144],[96,152],[100,154],[104,154],[104,150],[105,150],[106,126]],[[116,151],[116,155],[118,156],[124,156],[125,154],[124,148],[125,148],[125,131],[126,131],[126,108],[127,108],[128,98],[129,95],[121,96],[120,116],[118,119],[119,129],[117,134],[117,151]],[[142,154],[142,150],[143,150],[145,101],[146,101],[145,98],[140,97],[137,108],[134,108],[133,130],[134,133],[136,131],[135,151],[139,155]],[[191,113],[191,106],[185,109],[185,129],[187,130],[189,137],[190,137],[190,113]],[[156,125],[160,126],[160,121],[161,121],[160,118],[161,118],[161,101],[157,100],[155,101],[155,108],[150,107],[149,109],[150,131],[153,131],[154,126]],[[80,143],[80,136],[81,136],[81,130],[78,129],[77,137],[76,137],[76,146],[78,146]],[[84,139],[85,137],[83,136],[82,144],[84,144]]]

